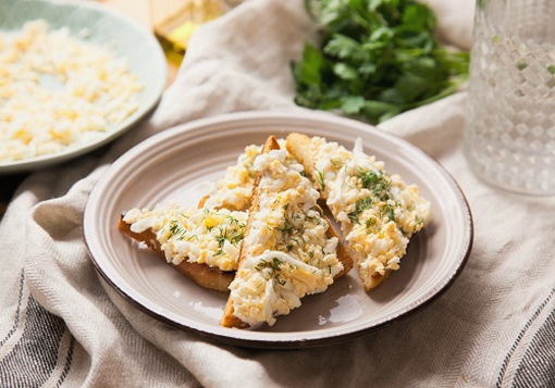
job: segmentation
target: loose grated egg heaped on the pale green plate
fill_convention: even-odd
[[[27,22],[0,34],[0,162],[88,142],[137,110],[143,86],[107,49]]]

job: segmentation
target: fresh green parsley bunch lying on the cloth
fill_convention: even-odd
[[[469,55],[442,48],[435,17],[414,0],[307,0],[321,26],[293,63],[299,105],[380,123],[453,93]]]

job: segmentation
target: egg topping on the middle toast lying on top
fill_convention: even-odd
[[[256,158],[262,173],[259,210],[251,214],[243,249],[246,259],[230,286],[234,314],[256,327],[273,325],[306,295],[324,291],[343,270],[337,238],[317,206],[319,192],[303,166],[274,150]]]

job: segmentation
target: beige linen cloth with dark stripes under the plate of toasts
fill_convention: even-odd
[[[473,1],[430,2],[442,38],[468,48]],[[82,221],[109,163],[140,139],[197,117],[298,109],[288,64],[312,34],[300,0],[244,3],[198,32],[150,120],[104,154],[35,173],[22,185],[0,224],[0,386],[484,387],[532,375],[534,384],[555,384],[550,346],[533,348],[551,338],[554,349],[555,325],[547,324],[555,202],[499,191],[469,172],[462,92],[381,125],[437,159],[474,214],[465,271],[409,318],[326,348],[248,350],[173,329],[101,286]]]

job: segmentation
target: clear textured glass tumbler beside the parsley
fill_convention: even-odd
[[[465,152],[498,187],[555,195],[555,0],[478,0]]]

